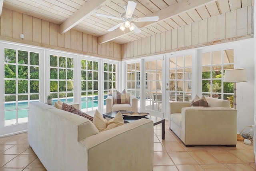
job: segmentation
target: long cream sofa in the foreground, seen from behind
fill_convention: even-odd
[[[48,171],[152,171],[153,122],[100,132],[88,119],[30,103],[28,143]]]

